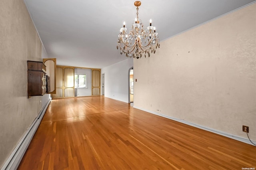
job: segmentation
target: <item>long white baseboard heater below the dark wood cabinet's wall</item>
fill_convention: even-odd
[[[42,118],[44,117],[44,113],[46,112],[46,109],[50,104],[51,100],[52,97],[50,97],[46,104],[42,107],[41,111],[38,114],[38,117],[36,117],[32,125],[30,125],[26,133],[22,136],[20,142],[14,148],[12,154],[6,160],[1,170],[16,170],[18,168],[20,161],[22,160],[22,157],[24,156],[28,145],[30,144],[30,141],[32,140]]]

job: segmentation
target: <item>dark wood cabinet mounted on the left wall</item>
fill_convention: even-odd
[[[40,61],[28,61],[28,97],[42,96],[46,89],[46,66]]]

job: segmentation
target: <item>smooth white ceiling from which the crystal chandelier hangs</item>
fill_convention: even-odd
[[[134,22],[134,0],[24,2],[48,57],[57,58],[57,65],[103,68],[126,59],[116,43],[123,22],[127,28]],[[141,0],[139,18],[144,26],[152,19],[161,43],[251,2],[255,0]]]

